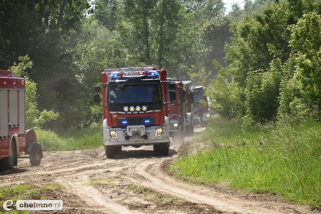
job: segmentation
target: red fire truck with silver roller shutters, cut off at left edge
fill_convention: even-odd
[[[42,146],[35,132],[25,130],[25,81],[0,70],[0,167],[13,169],[18,156],[29,154],[32,166],[41,162]],[[28,157],[27,157],[28,158]]]

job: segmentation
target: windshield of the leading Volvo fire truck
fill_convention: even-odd
[[[108,85],[109,104],[160,103],[159,83]]]

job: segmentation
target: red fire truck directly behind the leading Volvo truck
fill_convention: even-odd
[[[174,142],[184,142],[186,125],[187,125],[187,103],[186,103],[186,89],[185,84],[180,81],[171,81],[167,78],[169,83],[175,84],[176,100],[170,102],[168,100],[168,119],[169,119],[169,136],[173,138]]]

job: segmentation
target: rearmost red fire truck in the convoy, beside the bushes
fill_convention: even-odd
[[[204,95],[206,88],[204,88],[203,86],[198,86],[198,87],[195,87],[193,91],[194,91],[194,124],[200,124],[201,126],[205,127],[208,123],[208,120],[211,117],[210,109],[208,106],[208,99]]]

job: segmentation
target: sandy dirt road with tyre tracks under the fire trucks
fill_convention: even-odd
[[[202,130],[195,127],[195,133]],[[151,146],[125,147],[112,159],[106,158],[103,148],[45,152],[40,166],[31,167],[28,159],[19,159],[14,170],[0,172],[0,188],[60,184],[62,189],[43,193],[47,199],[63,200],[59,213],[317,213],[273,195],[176,180],[166,169],[195,144],[195,138],[187,137],[184,144],[172,145],[166,157],[154,153]]]

